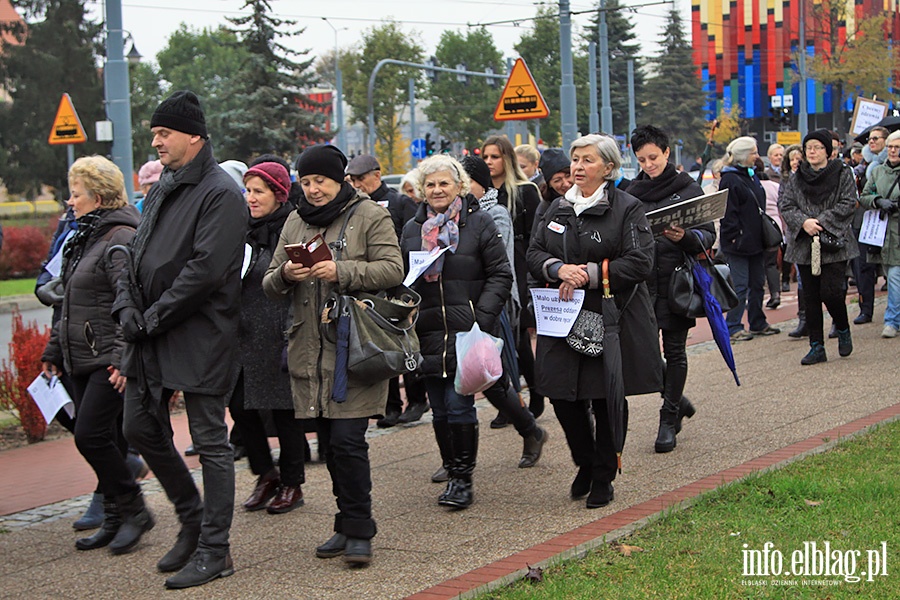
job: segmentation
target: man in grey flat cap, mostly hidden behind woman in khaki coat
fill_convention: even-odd
[[[416,202],[381,181],[381,165],[374,156],[369,154],[360,154],[351,160],[347,165],[347,175],[350,176],[350,183],[353,187],[388,209],[399,240],[403,226],[416,216]],[[384,417],[378,419],[379,427],[393,427],[397,423],[413,423],[421,419],[428,410],[423,383],[413,376],[404,376],[403,386],[406,388],[406,410],[403,410],[403,399],[400,397],[400,378],[394,377],[388,383],[387,408],[385,408]]]

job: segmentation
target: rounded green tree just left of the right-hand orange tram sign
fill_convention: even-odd
[[[444,67],[454,68],[462,63],[469,71],[484,71],[490,66],[498,74],[493,87],[483,77],[470,77],[467,83],[461,83],[452,73],[439,73],[429,86],[431,102],[425,114],[444,137],[462,142],[466,148],[480,145],[496,126],[494,108],[503,89],[502,73],[506,70],[503,55],[494,45],[494,38],[480,28],[470,29],[465,36],[445,31],[435,58]]]

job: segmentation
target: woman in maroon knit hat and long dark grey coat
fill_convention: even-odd
[[[291,213],[291,178],[277,162],[262,162],[244,174],[250,222],[241,271],[241,325],[238,363],[229,410],[241,434],[250,469],[258,477],[244,502],[248,511],[281,514],[303,505],[305,482],[303,421],[294,418],[291,381],[282,369],[284,332],[290,326],[290,300],[266,297],[262,280]],[[272,461],[260,410],[271,410],[281,455]]]

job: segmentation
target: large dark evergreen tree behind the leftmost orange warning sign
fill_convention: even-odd
[[[81,0],[15,4],[28,32],[12,32],[24,43],[4,44],[0,55],[0,80],[11,97],[0,104],[0,179],[13,194],[37,194],[45,183],[62,199],[68,194],[66,148],[47,138],[63,93],[71,96],[89,139],[94,122],[105,118],[96,66],[101,27],[87,20]],[[108,151],[105,143],[75,146],[76,156]]]

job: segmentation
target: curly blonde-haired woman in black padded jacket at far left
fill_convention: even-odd
[[[103,493],[99,531],[75,546],[109,546],[113,554],[125,554],[155,522],[125,463],[128,447],[120,431],[125,377],[119,372],[124,340],[111,315],[125,256],[119,253],[107,260],[106,251],[131,242],[140,215],[128,205],[122,172],[102,156],[72,164],[69,190],[68,205],[78,228],[63,250],[61,318],[41,360],[47,378],[63,368],[71,377],[75,445],[97,474]]]

